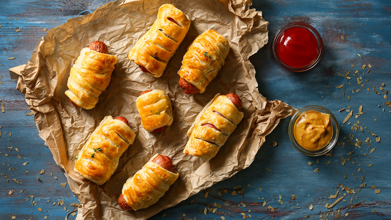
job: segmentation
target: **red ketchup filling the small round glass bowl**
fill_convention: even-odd
[[[288,28],[276,40],[278,57],[291,68],[309,66],[320,53],[316,37],[306,28]]]

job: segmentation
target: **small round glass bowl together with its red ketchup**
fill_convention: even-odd
[[[285,25],[273,40],[274,57],[281,66],[294,72],[314,67],[322,53],[322,38],[314,27],[306,23]]]

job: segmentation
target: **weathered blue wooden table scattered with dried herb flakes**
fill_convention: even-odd
[[[0,3],[0,219],[75,218],[79,201],[8,69],[25,64],[47,30],[105,3]],[[259,92],[296,108],[328,108],[338,144],[332,155],[305,156],[289,141],[290,118],[282,120],[249,168],[152,219],[390,219],[391,2],[262,0],[253,8],[270,22],[269,43],[250,58]],[[292,21],[311,24],[323,39],[323,56],[307,72],[283,69],[272,54],[274,34]],[[353,115],[343,124],[347,110]]]

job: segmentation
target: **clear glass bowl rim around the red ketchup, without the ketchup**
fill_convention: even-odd
[[[314,61],[312,61],[312,63],[310,63],[309,65],[304,66],[304,67],[300,67],[300,68],[295,68],[295,67],[288,66],[287,64],[285,64],[281,60],[281,58],[278,56],[278,53],[277,53],[278,39],[280,39],[280,37],[282,36],[284,31],[286,31],[288,29],[291,29],[291,28],[295,28],[295,27],[300,27],[300,28],[307,29],[311,34],[313,34],[313,36],[315,37],[315,39],[316,39],[316,41],[318,43],[318,55],[317,55],[316,59]],[[288,69],[288,70],[293,71],[293,72],[303,72],[303,71],[311,69],[312,67],[314,67],[319,62],[320,57],[323,54],[323,43],[322,43],[322,38],[319,35],[319,32],[316,31],[316,29],[314,27],[312,27],[311,25],[303,23],[303,22],[289,23],[289,24],[283,26],[280,30],[278,30],[276,35],[274,36],[273,46],[272,47],[273,47],[273,54],[274,54],[274,57],[276,58],[277,62],[281,66],[283,66],[285,69]]]

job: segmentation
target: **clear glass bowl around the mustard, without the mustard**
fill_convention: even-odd
[[[304,113],[312,112],[312,111],[330,115],[330,122],[331,122],[332,129],[333,129],[333,135],[331,137],[330,142],[318,150],[308,150],[308,149],[300,146],[300,144],[297,143],[297,141],[294,137],[294,133],[293,133],[296,121],[300,118],[300,116],[303,115]],[[339,127],[338,127],[337,120],[335,119],[335,116],[330,111],[328,111],[327,108],[319,106],[319,105],[308,105],[308,106],[305,106],[305,107],[299,109],[299,111],[297,111],[295,113],[295,115],[293,115],[291,121],[289,122],[288,134],[289,134],[289,139],[291,140],[292,145],[298,151],[300,151],[301,153],[308,155],[308,156],[320,156],[320,155],[328,153],[334,147],[334,145],[337,143],[338,135],[339,135]]]

